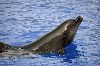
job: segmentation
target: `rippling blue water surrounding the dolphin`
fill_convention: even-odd
[[[83,16],[73,42],[59,55],[0,58],[0,66],[100,66],[100,0],[0,0],[0,41],[36,41],[69,18]]]

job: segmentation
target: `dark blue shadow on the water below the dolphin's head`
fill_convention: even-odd
[[[79,57],[79,51],[76,50],[77,46],[74,43],[70,43],[68,46],[66,46],[64,54],[59,54],[59,53],[48,53],[48,54],[43,54],[43,57],[56,57],[56,58],[63,58],[63,62],[70,62],[71,59],[75,59]]]

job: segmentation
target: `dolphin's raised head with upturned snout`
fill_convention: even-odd
[[[76,19],[70,19],[65,23],[65,30],[63,33],[63,41],[64,45],[68,45],[71,41],[73,41],[74,36],[78,30],[79,25],[81,24],[83,18],[78,16]]]

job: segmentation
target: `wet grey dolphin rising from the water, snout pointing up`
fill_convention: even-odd
[[[50,33],[41,37],[37,41],[24,46],[12,48],[12,46],[1,42],[0,52],[9,49],[15,50],[15,48],[21,48],[35,53],[62,52],[63,48],[73,40],[82,20],[83,18],[81,16],[78,16],[76,19],[66,20]]]

